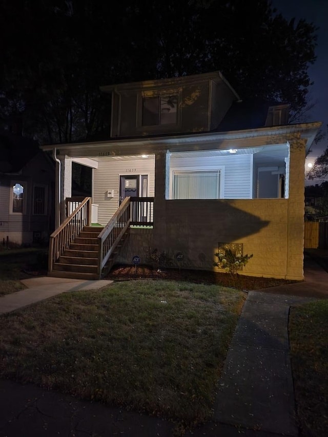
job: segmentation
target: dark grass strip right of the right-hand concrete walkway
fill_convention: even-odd
[[[328,435],[328,300],[291,309],[295,401],[302,437]]]

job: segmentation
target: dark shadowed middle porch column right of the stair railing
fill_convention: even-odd
[[[155,199],[153,247],[158,252],[166,251],[166,199],[169,198],[170,152],[155,153]]]

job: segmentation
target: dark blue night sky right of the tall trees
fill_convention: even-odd
[[[317,60],[309,68],[309,75],[314,85],[310,88],[311,100],[315,107],[307,115],[306,121],[322,121],[322,128],[328,124],[328,1],[327,0],[272,0],[272,6],[285,18],[305,18],[320,29],[317,32]],[[328,146],[328,136],[313,145],[306,163],[314,162],[317,156]]]

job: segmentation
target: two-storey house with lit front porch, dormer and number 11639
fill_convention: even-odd
[[[303,279],[304,159],[321,123],[289,125],[288,105],[242,101],[217,71],[101,90],[110,139],[43,147],[60,193],[50,274],[76,277],[78,258],[92,279],[114,255],[142,263],[155,249],[168,266],[213,269],[222,246],[254,255],[241,274]],[[83,202],[70,199],[72,162],[93,169]],[[65,240],[69,220],[83,223]]]

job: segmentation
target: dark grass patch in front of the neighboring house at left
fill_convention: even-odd
[[[39,248],[0,249],[0,296],[25,289],[20,282],[45,267],[45,250]]]

